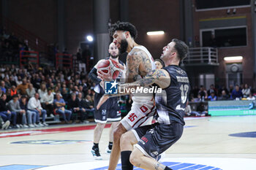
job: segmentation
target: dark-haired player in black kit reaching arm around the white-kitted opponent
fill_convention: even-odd
[[[155,97],[158,123],[132,129],[121,136],[121,153],[126,152],[126,157],[129,158],[129,161],[122,162],[123,170],[133,169],[132,165],[142,169],[170,169],[156,160],[183,133],[184,110],[190,86],[187,73],[178,64],[187,56],[187,51],[188,47],[184,42],[173,39],[163,48],[161,59],[166,67],[156,69],[143,80],[127,85],[127,88],[134,85],[144,87],[155,83],[162,88],[162,93],[156,93]],[[136,144],[135,148],[133,144]]]

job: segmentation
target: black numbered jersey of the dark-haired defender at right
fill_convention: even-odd
[[[164,67],[170,74],[170,86],[156,94],[156,106],[159,123],[171,124],[173,122],[185,125],[184,114],[189,98],[189,78],[187,73],[179,66]]]

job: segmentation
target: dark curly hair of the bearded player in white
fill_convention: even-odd
[[[129,31],[129,34],[133,39],[136,39],[138,35],[138,31],[135,26],[128,22],[117,21],[116,23],[112,24],[110,27],[110,35],[113,36],[115,31]]]

